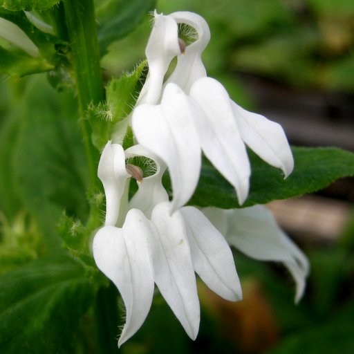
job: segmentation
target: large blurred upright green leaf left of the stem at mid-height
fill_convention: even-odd
[[[58,95],[43,75],[30,79],[17,111],[21,129],[9,173],[48,239],[63,209],[68,215],[86,217],[88,167],[73,92]]]

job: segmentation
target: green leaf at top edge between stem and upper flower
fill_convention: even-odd
[[[127,35],[155,8],[155,0],[95,1],[97,32],[102,54],[113,41]]]

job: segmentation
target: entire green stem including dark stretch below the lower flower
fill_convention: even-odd
[[[89,167],[90,186],[88,193],[91,195],[91,199],[93,198],[90,203],[91,210],[86,221],[86,228],[93,231],[100,225],[100,210],[93,196],[100,192],[102,187],[97,178],[100,154],[91,140],[92,129],[88,121],[88,107],[104,100],[93,0],[64,0],[64,14],[71,45],[71,62],[77,85],[80,126]],[[101,353],[117,353],[118,351],[115,339],[118,329],[117,294],[117,290],[112,284],[110,288],[101,288],[97,292],[94,309],[97,340],[102,348]]]

